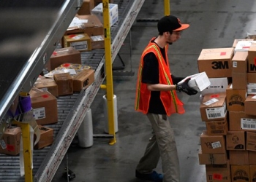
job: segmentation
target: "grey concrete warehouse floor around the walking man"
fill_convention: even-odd
[[[72,181],[139,181],[135,178],[135,167],[151,137],[151,126],[146,116],[134,109],[135,84],[140,54],[149,39],[157,36],[157,20],[164,15],[163,2],[145,1],[132,26],[132,52],[129,49],[129,36],[119,52],[126,65],[121,71],[134,71],[135,75],[115,76],[115,71],[113,73],[118,113],[116,143],[110,146],[109,139],[94,138],[93,145],[83,149],[75,138],[53,181],[65,181],[62,174],[67,166],[75,173]],[[170,46],[172,73],[176,76],[197,74],[197,58],[202,49],[232,47],[234,39],[244,39],[247,33],[256,34],[255,9],[254,0],[170,1],[170,13],[179,17],[182,23],[190,24],[190,28],[182,33],[181,39]],[[113,67],[116,66],[121,66],[119,58],[113,63]],[[99,90],[91,105],[94,134],[105,134],[103,95],[105,90]],[[178,97],[184,102],[186,113],[170,116],[170,123],[176,135],[181,182],[204,182],[205,166],[199,165],[197,156],[200,133],[206,130],[205,123],[200,119],[200,93],[188,96],[181,92]],[[160,163],[157,171],[162,171]]]

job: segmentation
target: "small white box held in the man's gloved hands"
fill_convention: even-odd
[[[193,75],[187,76],[185,79],[181,80],[181,82],[178,82],[178,84],[184,82],[188,78],[190,78],[189,83],[188,83],[189,87],[192,87],[195,90],[203,91],[208,86],[211,85],[211,82],[208,79],[208,76],[206,75],[206,72],[202,72],[202,73],[199,73],[199,74],[193,74]]]

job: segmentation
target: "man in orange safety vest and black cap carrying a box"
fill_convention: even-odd
[[[173,129],[167,116],[184,114],[181,100],[176,90],[188,95],[197,94],[197,90],[188,86],[190,79],[170,74],[167,50],[169,44],[181,38],[181,31],[189,28],[189,24],[173,16],[162,17],[157,23],[159,35],[149,41],[143,51],[138,69],[135,110],[146,114],[153,129],[146,151],[136,167],[136,178],[146,181],[179,182],[179,162]],[[162,159],[162,172],[157,167],[159,157]]]

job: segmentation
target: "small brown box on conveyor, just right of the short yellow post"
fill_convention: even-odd
[[[53,143],[53,129],[50,127],[38,125],[40,131],[40,139],[34,146],[34,149],[42,149],[45,146],[50,146]]]

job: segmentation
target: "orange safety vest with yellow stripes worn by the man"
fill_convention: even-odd
[[[154,39],[154,38],[153,38]],[[151,39],[151,41],[153,40]],[[165,58],[162,57],[162,53],[159,47],[152,43],[148,44],[146,49],[143,51],[143,54],[140,58],[140,66],[138,69],[138,79],[137,79],[137,90],[136,90],[136,99],[135,99],[135,110],[143,112],[143,114],[148,113],[149,100],[151,98],[151,91],[148,90],[147,84],[141,82],[142,70],[143,70],[143,58],[148,52],[153,52],[156,55],[158,63],[159,63],[159,83],[160,84],[173,84],[173,80],[170,76],[170,68],[169,61],[167,58],[167,52],[165,52]],[[168,45],[165,46],[165,50],[167,50]],[[162,100],[162,104],[165,108],[167,116],[171,114],[178,113],[184,114],[185,110],[183,107],[183,103],[181,100],[178,100],[177,94],[175,90],[170,91],[161,91],[160,99]]]

